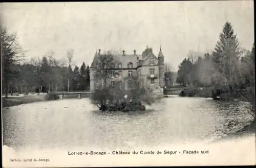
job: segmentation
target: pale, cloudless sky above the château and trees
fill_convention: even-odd
[[[211,52],[226,21],[242,48],[254,42],[253,1],[3,3],[1,22],[16,33],[27,60],[54,51],[73,65],[91,64],[96,50],[141,54],[146,46],[178,69],[188,53]]]

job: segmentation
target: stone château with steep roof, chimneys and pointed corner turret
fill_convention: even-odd
[[[97,89],[102,81],[99,81],[95,77],[95,69],[97,64],[97,58],[100,55],[99,52],[95,53],[93,62],[90,68],[90,88],[91,91]],[[146,47],[145,51],[140,55],[133,51],[133,54],[126,54],[122,51],[122,54],[113,54],[118,60],[114,65],[113,73],[109,84],[113,87],[119,87],[120,89],[129,90],[134,85],[139,87],[151,88],[153,90],[163,90],[164,87],[164,56],[160,51],[158,56],[153,54],[152,48]],[[138,79],[139,83],[134,79]],[[162,91],[161,91],[162,92]]]

